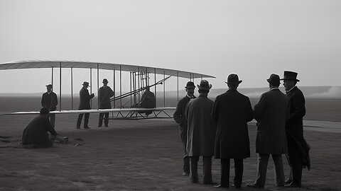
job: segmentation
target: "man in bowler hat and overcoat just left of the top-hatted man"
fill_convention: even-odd
[[[271,74],[266,81],[269,83],[270,91],[263,93],[254,106],[254,119],[257,120],[257,178],[253,184],[247,184],[247,187],[264,188],[270,154],[275,164],[276,184],[278,187],[284,187],[282,154],[288,153],[286,144],[288,100],[278,89],[281,83],[277,74]]]

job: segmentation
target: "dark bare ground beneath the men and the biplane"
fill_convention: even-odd
[[[31,117],[0,116],[0,190],[221,190],[192,184],[181,175],[182,145],[171,119],[115,120],[98,128],[97,115],[90,115],[92,129],[75,129],[77,115],[58,115],[56,130],[69,137],[69,144],[22,149],[17,141]],[[251,157],[244,160],[242,190],[249,190],[246,183],[256,177],[255,134],[256,127],[249,125]],[[298,190],[341,190],[340,135],[305,129],[312,170],[303,170]],[[285,156],[283,161],[288,175]],[[200,159],[200,182],[201,164]],[[231,171],[232,185],[233,162]],[[213,160],[212,173],[219,182],[219,160]],[[276,188],[272,161],[266,190],[295,190]]]

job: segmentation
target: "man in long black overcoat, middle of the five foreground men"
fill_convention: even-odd
[[[247,96],[237,91],[239,78],[230,74],[229,90],[217,96],[212,109],[212,118],[217,122],[215,158],[220,158],[221,178],[217,187],[229,187],[229,161],[234,158],[234,187],[242,186],[243,161],[250,156],[247,122],[254,119],[254,112]]]

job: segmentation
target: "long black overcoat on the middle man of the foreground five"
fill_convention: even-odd
[[[215,158],[249,157],[247,122],[254,119],[249,98],[237,90],[229,90],[217,96],[212,117],[217,122]]]

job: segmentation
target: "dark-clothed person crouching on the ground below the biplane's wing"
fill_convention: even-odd
[[[23,137],[21,138],[22,144],[33,144],[37,148],[46,148],[53,146],[53,141],[48,137],[48,132],[56,136],[57,132],[53,129],[50,121],[48,120],[48,108],[42,108],[40,115],[36,116],[28,123],[23,130]]]

